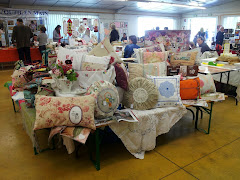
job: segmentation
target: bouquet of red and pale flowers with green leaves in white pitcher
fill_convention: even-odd
[[[57,78],[66,77],[69,81],[76,81],[79,74],[72,69],[72,64],[63,64],[58,61],[58,64],[52,69],[53,75]]]

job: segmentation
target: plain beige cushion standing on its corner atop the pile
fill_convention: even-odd
[[[123,63],[119,56],[114,51],[112,45],[110,44],[109,38],[105,38],[102,42],[89,52],[89,55],[94,55],[98,57],[102,56],[112,56],[114,57],[114,63]]]

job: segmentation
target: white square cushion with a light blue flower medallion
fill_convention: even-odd
[[[180,97],[180,76],[148,76],[159,91],[157,107],[182,105]]]

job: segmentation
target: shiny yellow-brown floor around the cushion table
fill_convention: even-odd
[[[3,87],[11,74],[0,71],[0,179],[240,179],[240,105],[232,98],[215,104],[209,135],[196,131],[188,114],[157,138],[157,147],[144,160],[134,158],[122,143],[105,145],[96,171],[86,148],[78,159],[64,148],[34,155],[20,113],[13,112]]]

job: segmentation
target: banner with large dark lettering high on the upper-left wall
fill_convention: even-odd
[[[0,9],[0,17],[46,17],[48,11],[28,9]]]

